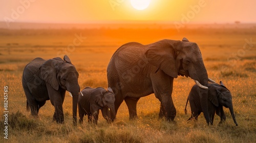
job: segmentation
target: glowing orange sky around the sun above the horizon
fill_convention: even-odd
[[[203,7],[199,3],[203,4]],[[191,7],[198,8],[198,6],[200,10],[191,9]],[[255,6],[255,0],[151,0],[147,9],[139,11],[131,6],[129,0],[10,0],[0,1],[0,20],[56,23],[134,20],[167,22],[189,20],[189,22],[204,23],[233,23],[236,20],[256,22]]]

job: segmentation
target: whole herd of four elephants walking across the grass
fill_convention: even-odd
[[[191,117],[203,112],[206,123],[212,124],[215,112],[226,120],[223,106],[233,113],[229,90],[208,78],[199,46],[186,38],[160,40],[143,45],[137,42],[123,44],[113,54],[107,67],[108,89],[86,87],[80,90],[78,72],[68,56],[50,60],[35,58],[24,68],[22,84],[27,98],[27,110],[38,115],[47,100],[55,108],[53,121],[64,122],[62,104],[66,90],[73,97],[73,123],[88,115],[88,122],[97,123],[99,110],[108,122],[113,122],[119,106],[125,101],[130,119],[137,118],[137,102],[152,93],[160,101],[159,117],[174,121],[176,108],[172,99],[173,81],[178,76],[190,77],[196,82],[188,101]],[[212,83],[208,83],[212,82]],[[188,102],[187,101],[187,102]],[[186,108],[185,108],[186,112]]]

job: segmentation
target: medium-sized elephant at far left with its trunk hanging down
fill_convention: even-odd
[[[38,115],[40,107],[50,100],[55,108],[53,120],[64,122],[62,104],[65,92],[73,94],[73,123],[76,125],[77,100],[80,87],[78,72],[68,56],[44,60],[35,58],[23,71],[22,84],[27,98],[27,110],[33,116]]]

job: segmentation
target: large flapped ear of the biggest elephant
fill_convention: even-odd
[[[178,77],[178,69],[176,65],[176,52],[175,47],[177,41],[175,40],[161,40],[151,44],[148,47],[145,55],[147,61],[162,69],[165,74],[177,78]]]

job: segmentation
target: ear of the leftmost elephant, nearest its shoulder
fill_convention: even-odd
[[[41,78],[50,84],[55,90],[59,89],[56,71],[57,60],[50,59],[45,61],[39,68],[41,71]]]

